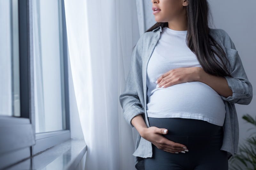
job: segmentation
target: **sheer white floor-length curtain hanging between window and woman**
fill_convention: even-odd
[[[135,169],[137,131],[125,122],[119,95],[140,37],[136,0],[64,2],[85,169]]]

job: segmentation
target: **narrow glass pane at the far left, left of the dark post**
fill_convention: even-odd
[[[20,117],[18,0],[0,0],[0,115]]]

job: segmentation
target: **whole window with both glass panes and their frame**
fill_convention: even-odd
[[[63,0],[0,0],[0,169],[70,139]]]

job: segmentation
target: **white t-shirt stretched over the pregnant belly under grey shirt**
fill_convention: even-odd
[[[147,67],[148,117],[200,119],[223,126],[226,110],[220,95],[200,81],[156,88],[164,73],[180,67],[202,67],[186,45],[187,31],[164,27]]]

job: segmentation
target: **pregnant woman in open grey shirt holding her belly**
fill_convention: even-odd
[[[135,167],[228,170],[237,152],[234,103],[252,85],[235,45],[208,27],[206,0],[152,0],[156,24],[139,39],[120,103],[139,132]]]

